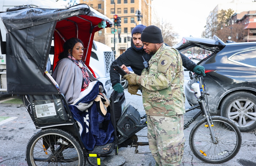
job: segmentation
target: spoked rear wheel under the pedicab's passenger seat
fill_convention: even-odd
[[[27,144],[26,160],[29,166],[85,165],[78,141],[59,129],[44,129],[34,134]]]

